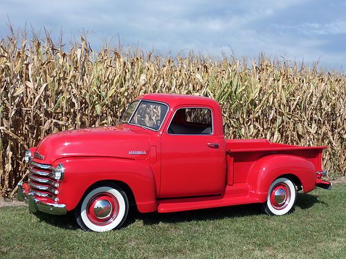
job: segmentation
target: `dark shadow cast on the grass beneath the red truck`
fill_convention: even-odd
[[[295,207],[300,209],[309,209],[316,203],[325,204],[318,200],[318,196],[311,195],[309,193],[298,193],[297,202]],[[253,215],[264,215],[260,204],[247,204],[230,207],[220,207],[214,209],[199,209],[196,211],[181,211],[174,213],[139,213],[136,208],[130,208],[130,213],[127,220],[125,221],[123,228],[133,224],[136,220],[143,221],[145,225],[153,225],[163,223],[179,223],[179,222],[190,222],[190,221],[203,221],[203,220],[222,220],[224,218],[242,218]],[[55,227],[62,229],[77,230],[77,222],[73,212],[67,213],[66,215],[48,215],[45,213],[36,213],[39,220],[51,224]]]

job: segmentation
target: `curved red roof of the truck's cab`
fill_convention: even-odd
[[[164,102],[172,108],[180,105],[219,106],[219,104],[215,100],[198,95],[177,95],[174,93],[149,93],[146,95],[140,95],[136,99],[147,99],[156,102]]]

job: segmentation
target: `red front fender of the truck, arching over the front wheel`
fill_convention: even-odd
[[[156,211],[156,184],[150,167],[138,160],[115,157],[68,157],[55,161],[64,164],[65,173],[59,187],[59,202],[71,211],[86,190],[96,182],[124,182],[134,193],[138,211]]]

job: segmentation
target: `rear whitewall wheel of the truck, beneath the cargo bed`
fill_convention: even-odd
[[[293,211],[297,192],[287,178],[277,178],[268,190],[264,211],[268,215],[284,215]]]

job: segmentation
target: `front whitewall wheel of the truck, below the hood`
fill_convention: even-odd
[[[86,231],[104,232],[118,229],[129,211],[127,195],[115,184],[95,187],[84,196],[75,218]]]

